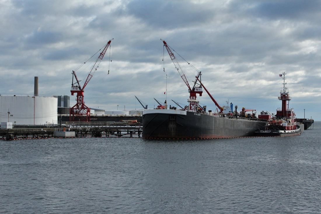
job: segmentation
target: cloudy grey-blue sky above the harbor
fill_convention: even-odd
[[[162,39],[189,84],[201,71],[221,106],[275,113],[285,72],[289,107],[321,120],[320,11],[316,0],[0,0],[0,94],[33,94],[38,76],[39,95],[68,95],[72,106],[72,71],[82,65],[83,84],[84,62],[114,38],[84,89],[87,106],[142,109],[135,96],[149,109],[154,98],[187,105]],[[215,111],[205,91],[197,99]]]

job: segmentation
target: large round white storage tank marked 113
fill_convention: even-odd
[[[9,117],[14,125],[57,124],[57,104],[53,96],[0,95],[0,121]]]

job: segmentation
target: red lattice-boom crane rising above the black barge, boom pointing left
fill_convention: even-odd
[[[162,40],[162,39],[160,39],[160,40]],[[182,77],[183,81],[185,82],[185,84],[186,84],[187,87],[188,87],[188,92],[189,92],[189,100],[188,100],[188,101],[189,101],[189,110],[190,110],[190,111],[197,111],[198,101],[196,101],[196,94],[199,94],[200,96],[202,96],[202,93],[203,93],[202,86],[200,85],[199,87],[195,87],[195,85],[196,85],[196,80],[195,80],[194,85],[193,85],[192,88],[189,86],[188,81],[187,81],[187,79],[186,79],[186,76],[185,76],[182,68],[180,67],[177,59],[175,58],[173,52],[171,51],[171,48],[167,45],[167,43],[166,43],[164,40],[162,40],[162,42],[164,43],[164,46],[166,47],[167,52],[168,52],[171,60],[173,61],[174,66],[175,66],[175,68],[177,69],[179,75]],[[188,63],[188,64],[189,64],[189,63]],[[198,75],[197,75],[196,79],[197,79],[198,77],[200,77],[200,76],[201,76],[201,72],[198,71]]]

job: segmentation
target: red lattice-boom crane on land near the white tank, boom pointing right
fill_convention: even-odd
[[[113,40],[113,39],[111,39],[111,40]],[[90,121],[90,108],[88,108],[85,105],[85,102],[83,100],[83,92],[84,92],[86,85],[91,80],[91,77],[96,72],[96,70],[99,66],[99,63],[101,62],[102,58],[104,57],[104,55],[106,53],[106,50],[108,49],[108,47],[111,43],[111,40],[109,40],[107,42],[107,45],[100,53],[99,57],[97,58],[94,66],[91,68],[91,71],[89,72],[87,79],[82,87],[80,85],[80,81],[78,80],[75,71],[73,71],[73,73],[72,73],[73,80],[72,80],[70,92],[71,92],[71,95],[74,95],[74,93],[77,93],[77,98],[76,98],[77,103],[73,107],[70,108],[69,121],[87,121],[87,122]],[[75,77],[76,82],[74,82],[74,77]]]

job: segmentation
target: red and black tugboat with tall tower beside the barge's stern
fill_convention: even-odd
[[[285,87],[285,75],[285,72],[280,74],[280,76],[283,77],[283,90],[281,90],[278,99],[282,101],[282,108],[276,110],[276,115],[270,114],[267,111],[261,111],[258,118],[268,121],[265,127],[255,131],[256,136],[295,136],[301,134],[301,128],[296,121],[293,108],[289,109],[291,97],[288,88]]]

